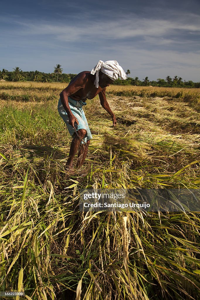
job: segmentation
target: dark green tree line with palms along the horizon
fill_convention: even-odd
[[[0,70],[0,80],[6,81],[36,81],[36,82],[70,82],[77,74],[62,73],[63,69],[60,64],[54,67],[53,73],[44,73],[40,71],[27,71],[23,72],[19,67],[13,68],[9,72],[6,69]],[[126,72],[127,76],[130,75],[130,70]],[[113,82],[114,85],[135,85],[135,86],[159,86],[159,87],[187,87],[187,88],[200,88],[200,82],[193,82],[192,80],[183,81],[181,77],[174,76],[174,78],[167,76],[166,79],[158,78],[157,81],[148,79],[146,76],[140,80],[139,77],[128,77],[126,80],[117,79]]]

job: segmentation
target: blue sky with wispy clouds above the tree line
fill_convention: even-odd
[[[117,60],[130,76],[200,81],[200,1],[2,1],[0,70],[64,73]]]

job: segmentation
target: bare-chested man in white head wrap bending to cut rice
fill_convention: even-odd
[[[106,100],[106,87],[114,82],[118,76],[126,79],[124,70],[117,61],[99,61],[94,69],[83,71],[74,77],[69,85],[60,93],[58,112],[67,125],[70,135],[73,137],[66,169],[73,167],[74,156],[78,152],[77,166],[81,167],[85,161],[88,146],[92,135],[82,106],[86,105],[87,99],[93,99],[99,95],[101,106],[112,117],[113,126],[117,124],[115,114]],[[77,123],[77,134],[74,131],[74,122]],[[81,145],[80,145],[81,144]]]

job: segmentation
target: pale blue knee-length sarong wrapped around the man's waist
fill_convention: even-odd
[[[82,100],[81,101],[73,100],[69,96],[68,96],[68,102],[69,102],[69,107],[70,107],[71,112],[73,113],[73,115],[76,117],[76,119],[79,122],[77,130],[85,129],[87,131],[85,134],[85,137],[83,138],[84,142],[86,143],[88,140],[92,139],[92,134],[91,134],[90,128],[88,126],[88,121],[85,117],[84,110],[82,109],[83,105],[86,105],[86,102],[84,102]],[[69,117],[67,116],[67,113],[62,105],[61,99],[59,99],[59,101],[58,101],[58,113],[61,116],[61,118],[63,119],[63,121],[65,122],[71,137],[73,137],[75,132],[74,132],[72,125],[69,124]],[[81,141],[81,143],[84,144],[82,141]]]

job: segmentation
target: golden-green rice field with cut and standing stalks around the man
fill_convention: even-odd
[[[0,82],[0,291],[32,300],[200,299],[198,213],[79,212],[79,188],[200,188],[200,90],[110,86],[65,172],[63,83]],[[75,164],[76,165],[76,164]],[[4,297],[3,299],[16,299]]]

